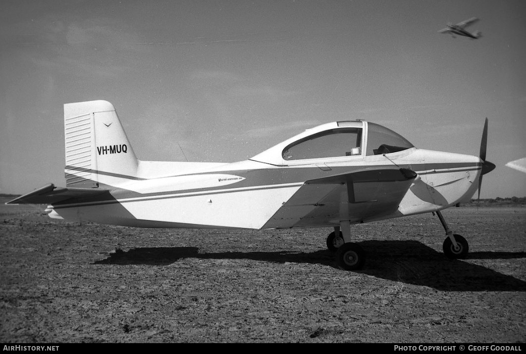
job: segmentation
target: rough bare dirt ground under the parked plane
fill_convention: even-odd
[[[0,342],[526,340],[526,207],[443,212],[470,244],[442,253],[437,216],[353,226],[346,272],[330,229],[141,229],[53,220],[0,202]]]

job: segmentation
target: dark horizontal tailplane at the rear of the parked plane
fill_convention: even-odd
[[[61,188],[49,183],[6,204],[55,204],[72,198],[93,197],[104,193],[109,193],[109,191],[89,188]]]

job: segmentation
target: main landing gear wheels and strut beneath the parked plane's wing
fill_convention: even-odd
[[[327,248],[336,252],[336,263],[340,269],[361,269],[365,263],[365,252],[359,244],[351,242],[351,227],[348,221],[341,222],[341,229],[343,232],[339,226],[335,226],[334,232],[327,236]]]

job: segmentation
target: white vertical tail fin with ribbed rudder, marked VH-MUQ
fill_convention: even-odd
[[[137,158],[112,103],[64,105],[66,185],[99,188],[134,179]]]

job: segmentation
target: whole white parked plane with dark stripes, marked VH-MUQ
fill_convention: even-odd
[[[112,103],[64,105],[66,188],[47,184],[6,204],[49,204],[50,217],[135,227],[333,229],[326,245],[341,269],[360,269],[351,225],[436,213],[444,254],[465,258],[441,210],[469,201],[486,160],[424,150],[367,121],[336,121],[233,163],[140,161]]]

